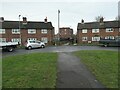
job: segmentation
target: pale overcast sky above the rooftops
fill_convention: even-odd
[[[104,16],[105,21],[115,20],[118,16],[118,1],[97,0],[2,0],[0,17],[5,20],[19,20],[19,15],[27,17],[28,21],[43,21],[45,17],[51,21],[58,31],[58,9],[60,10],[60,27],[71,27],[74,33],[77,24],[95,21],[95,17]],[[22,20],[21,17],[21,20]]]

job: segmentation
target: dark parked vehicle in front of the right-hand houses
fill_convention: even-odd
[[[102,46],[120,46],[120,37],[117,37],[115,39],[101,39],[99,41],[99,45]]]

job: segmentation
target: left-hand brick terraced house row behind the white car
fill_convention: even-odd
[[[25,44],[26,40],[41,40],[46,44],[52,44],[54,38],[54,27],[47,18],[43,22],[27,21],[7,21],[0,19],[0,42],[20,42]]]

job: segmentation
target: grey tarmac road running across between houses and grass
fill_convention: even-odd
[[[13,56],[17,54],[27,54],[27,53],[35,53],[35,52],[73,52],[79,50],[112,50],[118,51],[118,47],[100,47],[100,46],[49,46],[40,49],[16,49],[13,52],[0,52],[2,57]]]

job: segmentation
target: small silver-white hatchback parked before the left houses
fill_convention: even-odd
[[[38,40],[27,40],[25,48],[28,50],[33,48],[45,48],[45,43]]]

